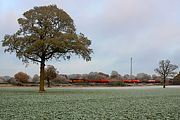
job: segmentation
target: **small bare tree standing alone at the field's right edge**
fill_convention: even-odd
[[[154,71],[158,73],[163,79],[163,88],[165,88],[166,86],[166,78],[169,76],[173,77],[176,74],[174,70],[176,70],[177,68],[178,66],[171,64],[170,60],[161,60],[159,62],[159,67]]]

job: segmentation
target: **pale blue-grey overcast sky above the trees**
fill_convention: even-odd
[[[0,0],[0,40],[15,33],[17,19],[34,6],[56,4],[74,20],[77,32],[84,33],[94,50],[92,61],[78,57],[50,61],[60,73],[154,74],[162,59],[180,66],[180,0]],[[19,71],[39,74],[39,65],[27,68],[15,54],[4,53],[0,45],[0,76]]]

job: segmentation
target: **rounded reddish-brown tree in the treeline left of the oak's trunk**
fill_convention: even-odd
[[[14,75],[14,78],[18,82],[27,83],[28,79],[29,79],[29,75],[27,75],[26,73],[23,73],[23,72],[18,72]]]

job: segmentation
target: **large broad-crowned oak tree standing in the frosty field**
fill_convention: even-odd
[[[44,91],[45,62],[70,59],[73,54],[91,60],[91,41],[76,33],[71,17],[56,5],[34,7],[18,19],[19,30],[5,35],[5,52],[15,52],[23,62],[40,63],[40,87]]]

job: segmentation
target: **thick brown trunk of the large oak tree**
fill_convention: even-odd
[[[40,65],[40,85],[39,85],[39,92],[44,92],[44,80],[45,80],[45,62],[42,61]]]

